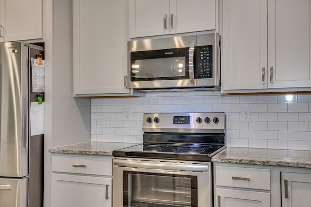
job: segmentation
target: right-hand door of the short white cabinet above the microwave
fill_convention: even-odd
[[[215,0],[170,0],[170,33],[215,29]]]

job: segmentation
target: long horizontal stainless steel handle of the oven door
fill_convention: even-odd
[[[121,160],[114,160],[114,165],[120,167],[132,168],[146,168],[146,169],[161,169],[161,170],[182,170],[182,171],[208,171],[208,165],[178,165],[178,164],[159,164],[159,163],[141,163],[141,162],[128,162]]]

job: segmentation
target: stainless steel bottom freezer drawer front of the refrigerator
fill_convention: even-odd
[[[28,178],[0,178],[0,206],[27,207]]]

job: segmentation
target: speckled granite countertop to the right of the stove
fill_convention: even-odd
[[[311,168],[311,151],[226,147],[212,162]]]

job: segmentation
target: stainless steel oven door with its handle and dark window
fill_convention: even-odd
[[[114,158],[114,207],[211,207],[209,162]]]

